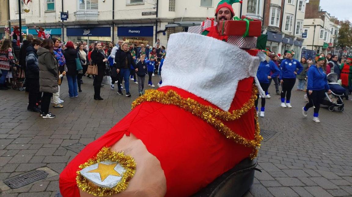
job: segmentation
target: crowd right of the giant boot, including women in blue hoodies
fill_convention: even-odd
[[[270,99],[268,88],[271,81],[275,82],[276,94],[281,96],[281,107],[292,108],[291,92],[298,79],[297,90],[306,92],[306,100],[308,103],[302,108],[304,117],[307,117],[309,108],[314,107],[313,121],[320,123],[319,109],[325,93],[331,94],[328,84],[327,75],[336,73],[338,81],[344,88],[344,98],[348,100],[348,95],[352,92],[352,57],[342,56],[341,59],[337,55],[328,53],[317,54],[315,59],[302,57],[301,61],[293,58],[295,52],[293,50],[285,51],[285,54],[275,54],[271,50],[266,49],[266,61],[260,63],[257,78],[260,86],[265,91],[266,96],[261,97],[260,113],[258,110],[258,99],[255,102],[257,114],[260,117],[265,116],[265,99]],[[281,57],[281,58],[280,58]],[[279,91],[282,86],[282,91]]]

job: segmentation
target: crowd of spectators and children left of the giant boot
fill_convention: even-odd
[[[122,90],[125,90],[126,97],[131,97],[131,80],[138,84],[138,94],[142,96],[145,76],[149,76],[148,86],[155,87],[151,77],[161,72],[166,52],[159,42],[158,39],[155,47],[143,44],[129,46],[122,40],[116,45],[99,41],[87,45],[87,42],[61,42],[46,36],[34,39],[32,34],[28,34],[20,47],[17,40],[4,39],[0,42],[0,90],[10,89],[8,85],[15,87],[14,80],[20,78],[18,72],[23,72],[21,86],[26,87],[25,91],[29,94],[27,110],[37,112],[43,118],[56,117],[49,111],[50,103],[54,108],[64,107],[64,101],[60,99],[64,76],[70,98],[78,97],[78,93],[83,91],[83,76],[94,79],[94,100],[103,100],[100,89],[104,86],[104,77],[111,90],[115,89],[117,82],[117,94],[123,95]],[[87,73],[89,66],[96,68],[96,73]]]

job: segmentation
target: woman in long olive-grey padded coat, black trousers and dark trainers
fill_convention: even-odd
[[[43,118],[55,118],[49,112],[52,93],[58,91],[58,64],[54,56],[54,43],[51,39],[44,39],[42,47],[37,51],[39,66],[39,90],[43,92],[42,112]]]

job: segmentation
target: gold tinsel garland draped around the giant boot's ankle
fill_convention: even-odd
[[[139,104],[149,101],[158,102],[162,104],[172,104],[180,107],[206,121],[210,125],[213,125],[221,134],[226,138],[233,140],[238,144],[242,144],[245,147],[252,148],[250,158],[254,159],[258,154],[258,148],[260,148],[260,142],[263,137],[260,136],[260,128],[258,122],[258,116],[255,115],[256,129],[253,140],[247,140],[246,138],[234,133],[228,128],[222,121],[233,121],[239,119],[243,114],[247,113],[251,108],[254,107],[254,102],[257,99],[258,89],[253,85],[251,98],[243,104],[243,107],[237,110],[233,110],[231,113],[222,111],[220,109],[214,109],[210,106],[205,106],[193,99],[184,99],[176,93],[174,90],[169,90],[166,93],[158,90],[146,90],[145,94],[135,101],[132,102],[132,109],[137,107]],[[257,114],[257,113],[255,113]]]

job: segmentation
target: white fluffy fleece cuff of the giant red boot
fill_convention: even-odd
[[[237,46],[199,34],[176,33],[168,41],[162,86],[184,89],[228,111],[238,82],[256,77],[258,67],[259,58]]]

